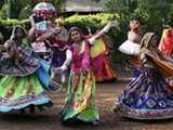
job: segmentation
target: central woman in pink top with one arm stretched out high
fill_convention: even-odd
[[[69,29],[71,47],[67,50],[67,58],[61,69],[67,69],[71,62],[68,92],[65,106],[62,112],[62,120],[81,120],[97,123],[99,114],[95,105],[95,77],[91,66],[91,46],[95,39],[108,31],[115,23],[109,23],[92,38],[82,39],[82,32],[78,27]]]

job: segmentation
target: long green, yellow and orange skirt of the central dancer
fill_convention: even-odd
[[[92,122],[99,119],[95,105],[95,78],[92,72],[70,74],[62,120],[78,119]]]

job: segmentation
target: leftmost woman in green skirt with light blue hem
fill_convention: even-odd
[[[45,90],[49,90],[50,65],[32,57],[32,51],[24,47],[26,36],[21,26],[13,28],[12,36],[3,48],[0,58],[0,112],[23,112],[35,106],[40,110],[52,106]]]

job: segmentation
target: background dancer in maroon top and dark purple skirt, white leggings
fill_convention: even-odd
[[[63,25],[56,25],[56,27],[52,28],[52,30],[45,32],[44,35],[40,36],[39,39],[45,42],[46,47],[52,50],[52,69],[51,69],[51,78],[52,81],[56,80],[54,83],[64,84],[67,78],[68,70],[58,70],[63,63],[66,60],[66,50],[69,48],[68,43],[68,34],[64,34],[65,28]],[[55,74],[58,73],[61,77],[55,77]],[[56,78],[56,79],[54,79]],[[61,79],[61,80],[59,80]]]

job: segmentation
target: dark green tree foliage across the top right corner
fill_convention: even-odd
[[[161,31],[173,14],[172,0],[103,0],[102,3],[108,11],[118,13],[127,28],[131,17],[139,18],[144,31]]]

